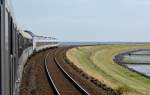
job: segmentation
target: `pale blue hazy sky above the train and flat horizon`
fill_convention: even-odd
[[[18,25],[60,41],[150,42],[150,0],[12,0]]]

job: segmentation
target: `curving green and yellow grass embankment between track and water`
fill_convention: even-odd
[[[73,48],[68,59],[87,74],[123,95],[150,95],[150,79],[114,63],[113,56],[150,45],[100,45]]]

